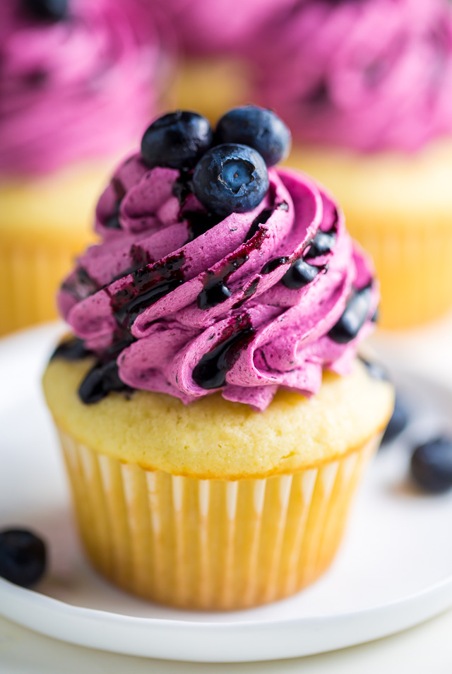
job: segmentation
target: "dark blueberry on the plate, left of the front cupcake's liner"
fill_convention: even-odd
[[[8,529],[0,532],[0,576],[30,587],[44,574],[47,553],[44,543],[31,531]]]

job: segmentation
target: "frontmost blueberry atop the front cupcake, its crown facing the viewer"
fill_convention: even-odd
[[[193,190],[208,211],[223,217],[252,211],[268,190],[266,162],[248,146],[219,145],[196,165]]]

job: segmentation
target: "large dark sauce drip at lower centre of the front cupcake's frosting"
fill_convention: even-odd
[[[204,354],[193,370],[193,379],[202,389],[220,389],[226,384],[226,374],[254,336],[248,314],[238,317],[223,332],[222,339]]]

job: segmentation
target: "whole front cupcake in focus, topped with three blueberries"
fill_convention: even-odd
[[[289,139],[251,106],[215,134],[157,119],[59,293],[73,335],[44,393],[81,539],[151,601],[246,608],[314,581],[391,416],[357,357],[371,261],[326,189],[274,167]]]

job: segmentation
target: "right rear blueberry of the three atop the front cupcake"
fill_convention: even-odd
[[[271,110],[256,105],[234,107],[217,124],[215,141],[254,148],[267,166],[278,164],[290,151],[290,131]]]

